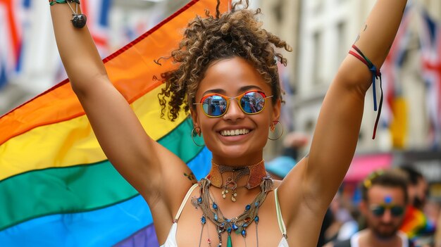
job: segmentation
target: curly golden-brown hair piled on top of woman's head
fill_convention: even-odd
[[[168,109],[168,118],[178,118],[180,110],[185,112],[194,106],[195,94],[199,82],[204,78],[206,69],[220,59],[241,57],[247,60],[271,85],[273,102],[282,99],[277,62],[286,66],[287,60],[275,47],[292,51],[282,39],[264,30],[256,11],[239,8],[242,1],[232,4],[231,11],[221,14],[220,1],[216,6],[216,15],[206,12],[206,18],[197,16],[189,23],[179,48],[172,51],[170,58],[178,63],[176,70],[161,75],[166,87],[159,94],[161,117]],[[168,107],[167,107],[168,106]]]

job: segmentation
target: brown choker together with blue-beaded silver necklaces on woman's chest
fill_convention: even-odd
[[[222,173],[231,172],[231,177],[228,177],[225,182],[223,182]],[[231,201],[235,202],[237,197],[237,181],[244,177],[244,175],[249,175],[247,184],[244,188],[253,189],[260,185],[261,191],[257,194],[251,203],[244,206],[244,212],[237,217],[232,217],[228,219],[225,217],[219,208],[216,201],[209,192],[209,187],[211,185],[223,189],[222,197],[225,199],[229,193],[231,193]],[[222,234],[227,233],[227,247],[232,247],[231,233],[241,234],[245,240],[247,236],[247,227],[253,222],[256,224],[256,243],[259,246],[259,238],[257,236],[257,226],[259,224],[259,208],[265,201],[268,191],[273,188],[273,179],[269,177],[266,173],[265,165],[263,160],[256,165],[244,165],[244,166],[227,166],[218,165],[212,162],[211,172],[205,178],[201,179],[199,182],[200,186],[200,196],[199,198],[193,198],[192,203],[196,208],[201,208],[201,236],[199,239],[199,246],[201,246],[202,234],[204,232],[204,226],[207,220],[213,222],[216,226],[216,233],[218,234],[218,246],[223,246]],[[247,242],[245,241],[245,246]],[[211,246],[211,240],[209,239],[209,246]]]

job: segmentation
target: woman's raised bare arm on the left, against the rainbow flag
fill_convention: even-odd
[[[75,3],[70,6],[75,10]],[[190,173],[188,167],[146,134],[128,102],[108,79],[87,27],[75,28],[70,22],[69,5],[54,4],[50,8],[61,60],[108,160],[149,203],[156,203],[158,195],[163,194],[164,179],[182,182],[179,188],[183,197],[185,186],[191,186],[183,176]],[[175,191],[175,198],[179,204],[179,191]],[[168,209],[175,210],[174,206]]]

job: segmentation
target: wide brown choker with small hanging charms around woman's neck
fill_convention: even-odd
[[[223,182],[222,173],[223,172],[232,172],[232,176],[228,177]],[[226,198],[227,194],[231,191],[231,201],[236,201],[236,189],[237,189],[237,180],[245,175],[249,175],[247,184],[244,186],[247,189],[254,189],[259,184],[261,184],[263,177],[266,177],[265,170],[265,162],[261,160],[261,162],[255,165],[244,165],[244,166],[228,166],[228,165],[218,165],[211,160],[211,171],[209,175],[206,177],[210,179],[211,184],[216,188],[223,189],[222,197]]]

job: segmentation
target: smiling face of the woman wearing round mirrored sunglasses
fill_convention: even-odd
[[[225,99],[227,110],[218,115],[215,115],[216,110],[211,114],[199,107],[192,110],[194,126],[200,127],[204,134],[205,144],[213,153],[213,160],[223,165],[232,165],[233,162],[259,163],[263,157],[262,147],[268,140],[262,137],[268,137],[268,127],[280,115],[280,101],[273,103],[269,100],[273,98],[270,84],[263,80],[249,62],[237,56],[209,65],[204,79],[199,82],[196,101],[204,102],[214,92],[216,96],[226,95],[224,97],[237,100]],[[258,114],[254,113],[251,108],[255,107],[245,101],[245,96],[248,99],[264,100],[263,106],[266,107],[259,109]],[[242,102],[244,107],[241,106]],[[250,112],[245,109],[250,109]],[[247,134],[235,134],[241,129],[246,130]],[[228,134],[224,135],[223,132]]]

